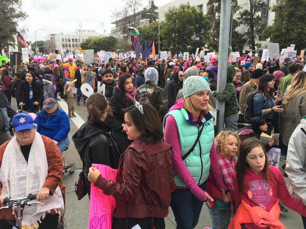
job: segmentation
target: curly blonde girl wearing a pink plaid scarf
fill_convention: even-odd
[[[223,182],[230,190],[231,200],[222,197],[222,192],[215,185],[214,178],[211,173],[206,182],[206,192],[214,199],[209,201],[211,208],[208,207],[211,216],[211,229],[228,228],[231,218],[236,210],[234,209],[234,185],[232,174],[236,171],[236,163],[239,152],[240,140],[237,133],[224,130],[215,138],[215,147],[218,154],[218,162],[221,169]],[[210,229],[206,227],[205,229]]]

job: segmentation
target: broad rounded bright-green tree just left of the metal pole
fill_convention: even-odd
[[[211,23],[209,16],[198,12],[189,2],[179,7],[169,7],[165,12],[165,21],[161,22],[160,35],[163,38],[163,51],[171,53],[192,53],[194,38],[200,37],[197,47],[204,47],[210,38]]]

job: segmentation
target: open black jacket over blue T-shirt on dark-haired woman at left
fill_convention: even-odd
[[[33,87],[33,86],[32,86]],[[41,90],[41,85],[39,83],[37,83],[37,87],[33,90],[33,102],[38,102],[39,106],[40,106],[40,102],[43,99],[43,93]],[[29,97],[29,89],[25,88],[25,83],[24,81],[21,81],[19,84],[19,88],[18,88],[18,102],[23,102],[25,105],[25,108],[23,108],[23,110],[27,110],[30,107],[30,97]],[[41,109],[41,107],[40,107]]]

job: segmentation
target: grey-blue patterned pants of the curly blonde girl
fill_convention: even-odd
[[[225,210],[214,211],[208,209],[211,216],[212,229],[227,229],[230,225],[230,220],[232,218],[232,213]]]

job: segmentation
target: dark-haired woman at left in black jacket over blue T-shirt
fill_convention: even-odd
[[[18,101],[22,101],[19,106],[24,106],[24,111],[36,113],[41,110],[40,102],[43,99],[43,93],[34,72],[27,72],[25,80],[20,82],[17,95]]]

